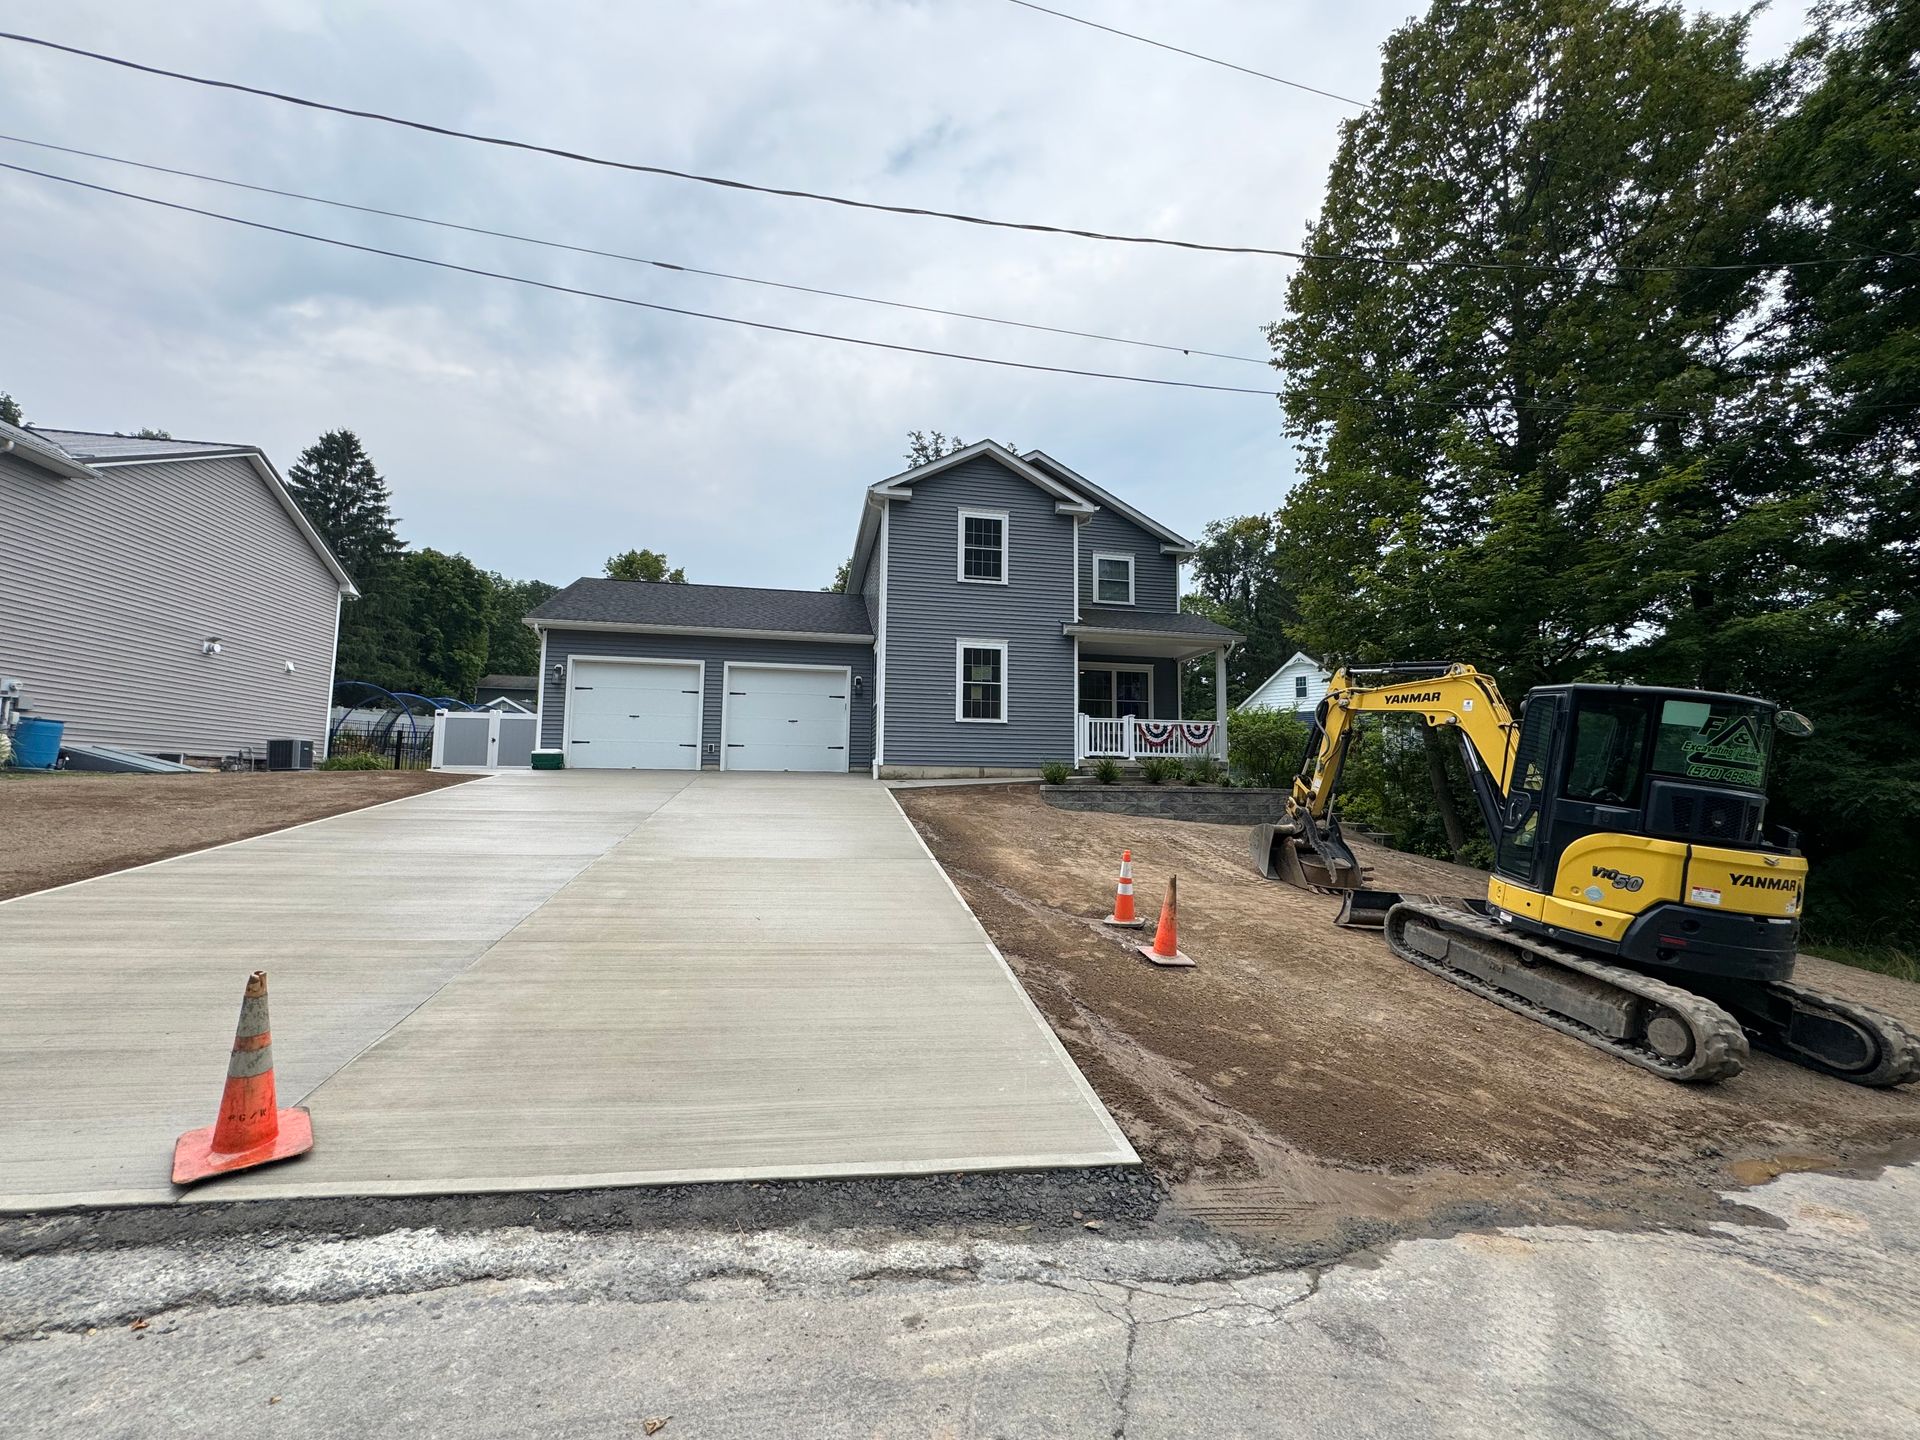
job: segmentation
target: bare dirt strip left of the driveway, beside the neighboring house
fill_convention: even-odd
[[[470,776],[301,770],[255,776],[0,776],[0,900],[265,835]]]

